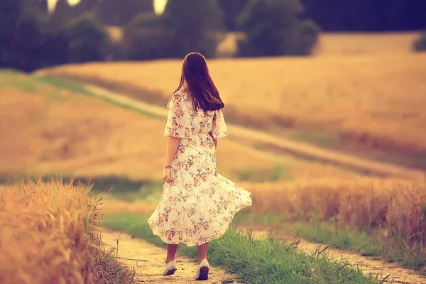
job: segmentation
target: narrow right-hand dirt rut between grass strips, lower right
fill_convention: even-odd
[[[241,228],[246,230],[248,228]],[[283,240],[292,241],[294,238],[285,236],[286,233],[275,232],[275,234]],[[267,231],[253,229],[253,236],[264,239],[268,236]],[[314,252],[320,244],[314,244],[304,239],[300,239],[298,247],[302,251]],[[325,246],[323,245],[324,249]],[[363,273],[371,273],[373,275],[379,275],[378,278],[384,278],[390,275],[386,279],[386,283],[404,283],[404,284],[424,284],[426,283],[426,277],[415,273],[415,271],[405,268],[400,268],[394,263],[386,263],[380,260],[374,260],[371,257],[359,256],[357,253],[351,253],[340,249],[329,248],[329,256],[334,259],[344,259],[354,265],[358,265]]]

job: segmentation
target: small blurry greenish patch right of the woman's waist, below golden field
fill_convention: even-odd
[[[278,180],[294,180],[290,170],[292,166],[288,164],[275,165],[273,168],[257,169],[246,168],[239,170],[237,175],[240,180],[247,182],[275,182]]]

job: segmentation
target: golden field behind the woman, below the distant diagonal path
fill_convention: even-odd
[[[162,178],[165,119],[144,116],[25,75],[3,74],[0,82],[2,79],[4,86],[6,81],[9,84],[0,89],[0,136],[7,137],[0,140],[3,175]],[[290,179],[357,176],[332,165],[265,153],[227,138],[219,141],[217,155],[219,173],[233,180],[280,167]]]

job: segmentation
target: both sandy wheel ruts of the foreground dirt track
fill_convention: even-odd
[[[121,234],[121,235],[120,235]],[[264,238],[266,231],[253,231],[253,236]],[[116,247],[116,240],[119,238],[119,261],[126,263],[129,268],[134,268],[137,273],[137,280],[141,283],[198,283],[194,281],[195,262],[191,258],[178,256],[176,263],[178,271],[173,276],[163,277],[161,275],[164,267],[165,249],[148,243],[143,239],[133,238],[128,234],[117,231],[104,231],[103,241],[108,248]],[[302,251],[315,251],[319,244],[312,244],[301,240],[298,247]],[[332,258],[344,259],[359,268],[364,273],[378,275],[384,278],[390,275],[386,283],[422,284],[426,283],[426,277],[416,274],[414,271],[400,268],[392,263],[373,260],[372,258],[359,256],[356,253],[349,253],[339,249],[329,249],[329,256]],[[128,259],[126,259],[128,258]],[[133,261],[133,259],[143,259],[146,261]],[[222,283],[222,280],[235,280],[234,275],[225,273],[222,268],[210,266],[209,280],[203,283]],[[237,282],[234,282],[237,283]]]

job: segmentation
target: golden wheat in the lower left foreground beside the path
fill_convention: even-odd
[[[0,185],[1,283],[136,283],[109,258],[99,226],[99,197],[49,183]]]

